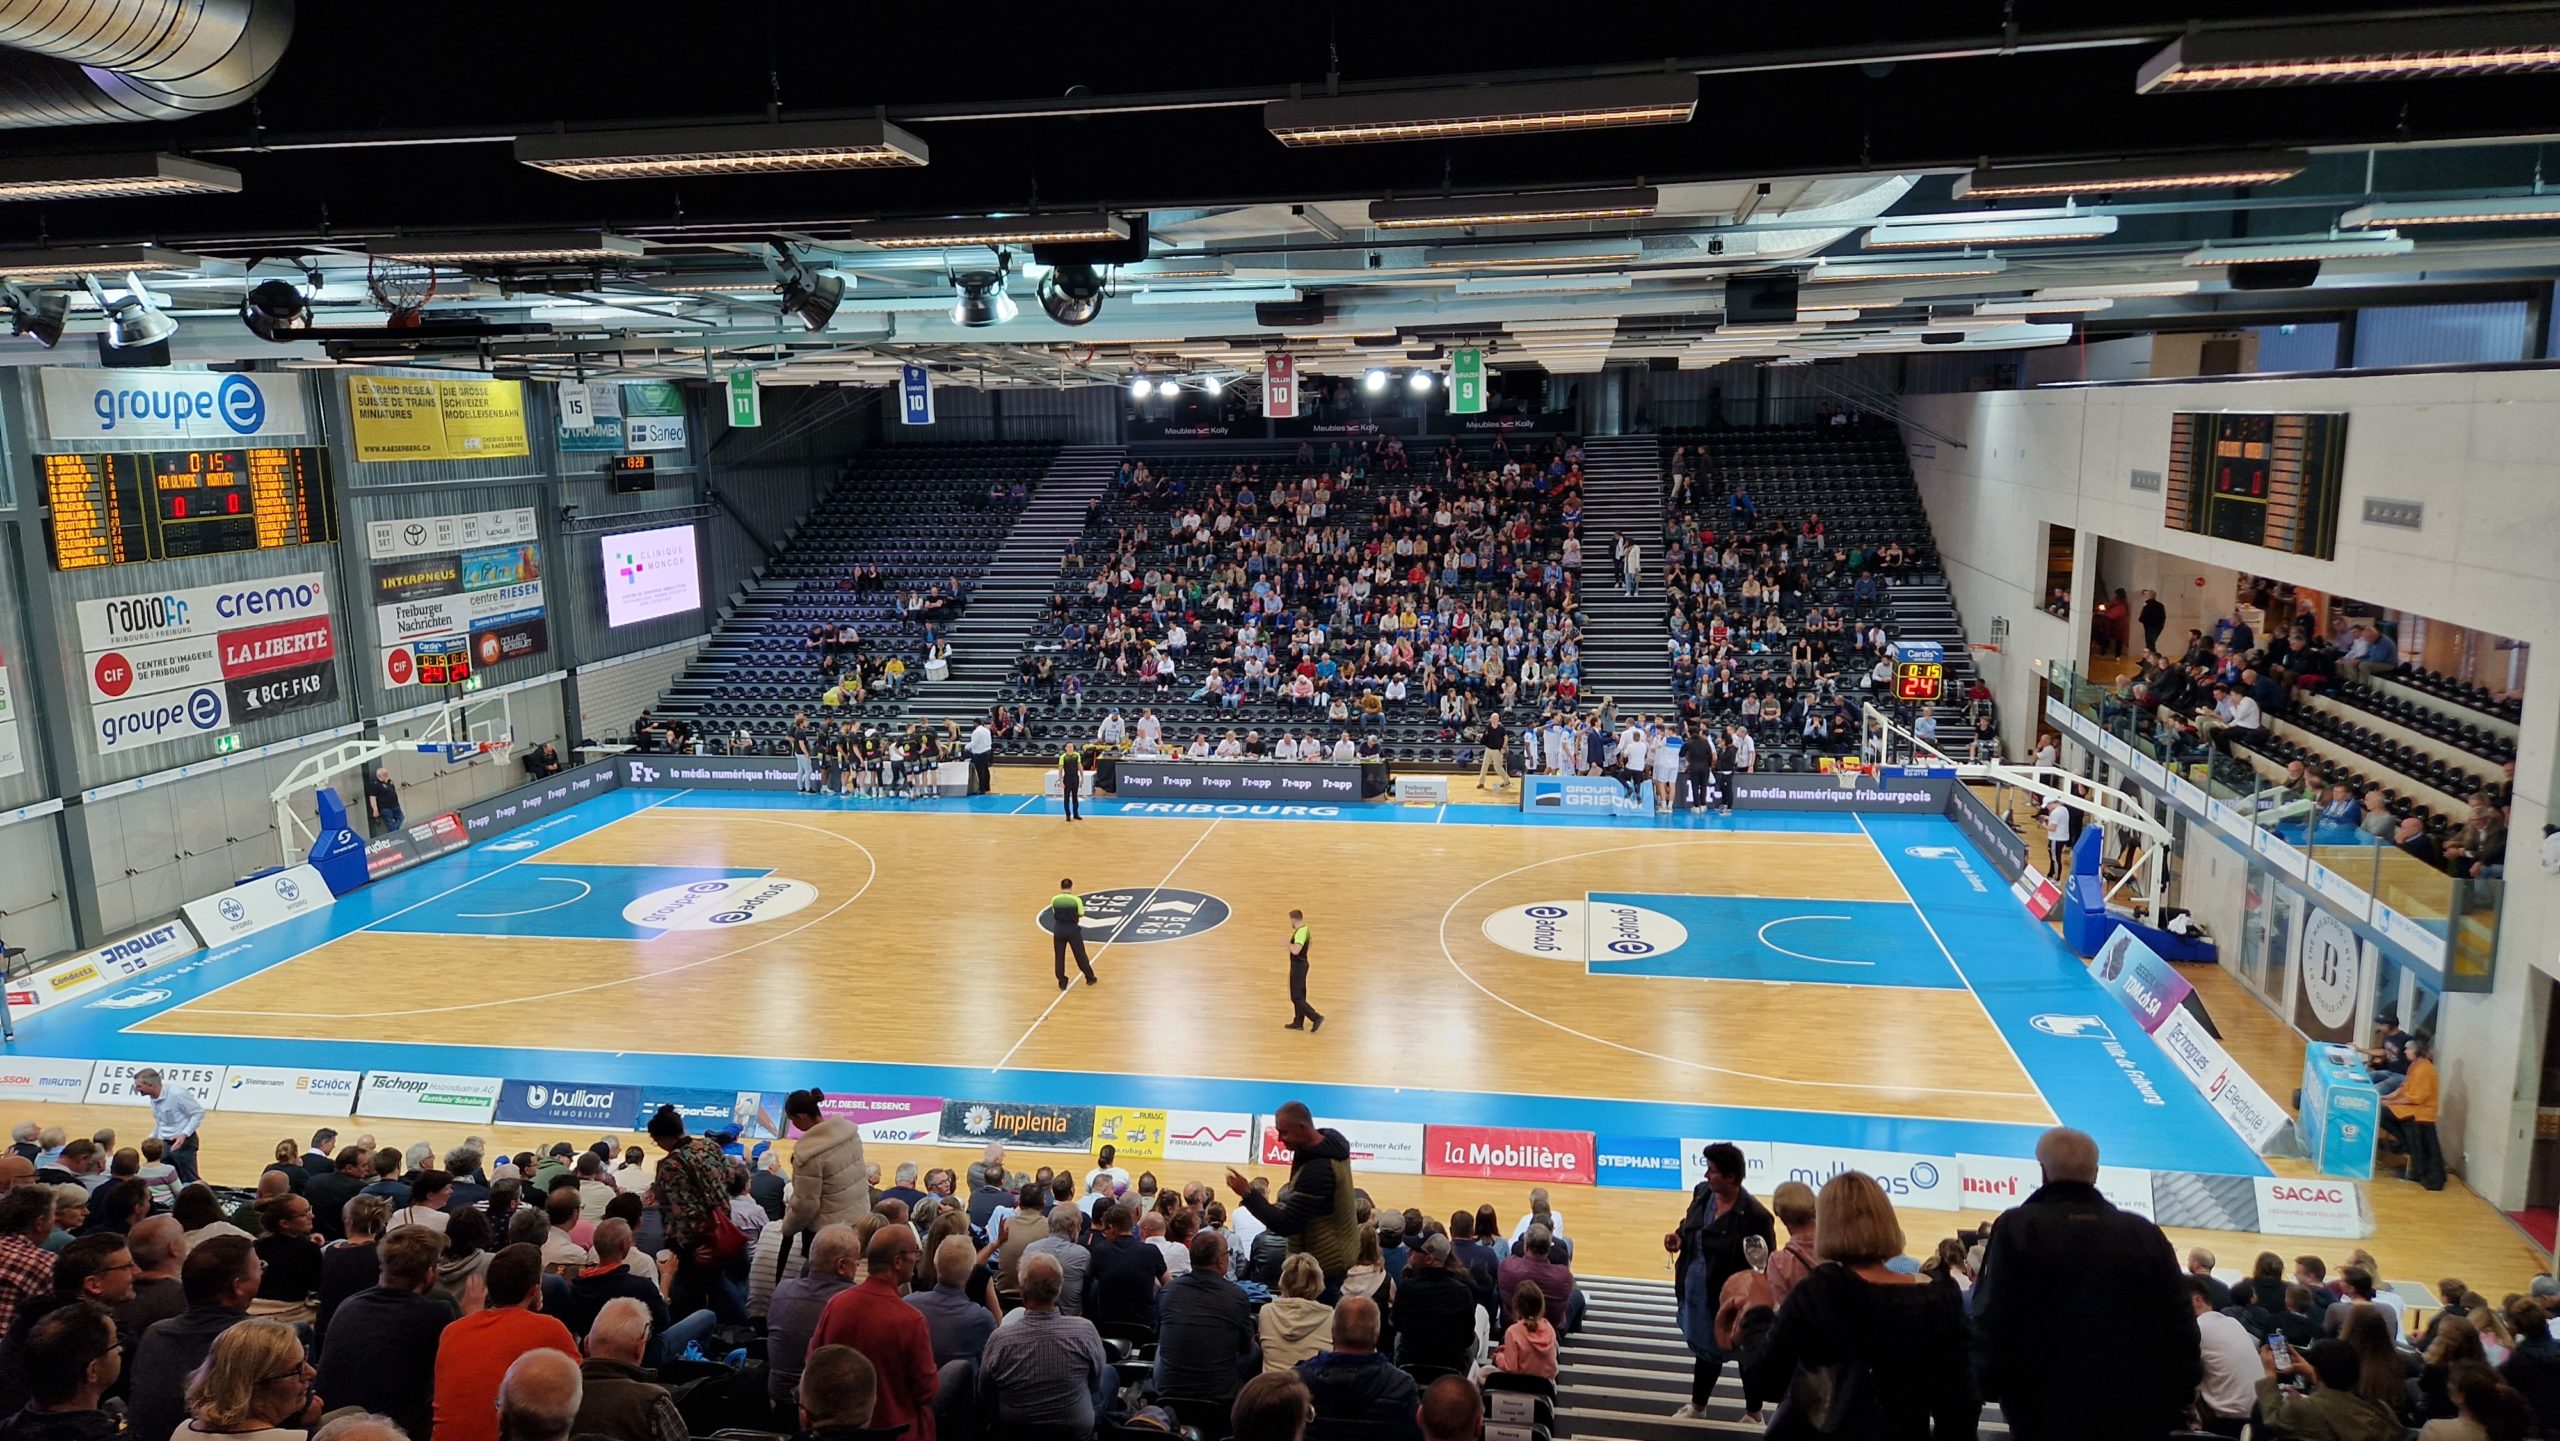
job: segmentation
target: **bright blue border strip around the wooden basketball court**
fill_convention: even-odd
[[[1039,816],[1060,816],[1057,801],[1039,796],[970,796],[945,801],[832,801],[788,793],[755,791],[614,791],[596,796],[558,816],[535,822],[497,842],[474,845],[458,855],[392,875],[312,916],[297,916],[269,932],[212,947],[187,962],[148,973],[123,988],[92,993],[59,1011],[41,1011],[18,1024],[18,1042],[8,1047],[26,1057],[74,1060],[128,1060],[128,1062],[202,1062],[202,1065],[284,1065],[328,1070],[420,1070],[445,1075],[494,1078],[566,1078],[645,1088],[712,1088],[712,1090],[791,1090],[822,1085],[829,1090],[883,1093],[883,1095],[945,1095],[973,1101],[1047,1101],[1068,1106],[1134,1106],[1134,1108],[1193,1108],[1270,1113],[1277,1101],[1306,1101],[1316,1113],[1403,1119],[1459,1126],[1533,1126],[1595,1131],[1603,1136],[1713,1136],[1736,1142],[1802,1142],[1843,1149],[1884,1149],[1917,1154],[1994,1154],[2030,1157],[2040,1126],[2002,1121],[1948,1121],[1928,1116],[1871,1116],[1843,1111],[1787,1111],[1754,1106],[1700,1106],[1677,1098],[1656,1101],[1605,1101],[1562,1098],[1549,1093],[1487,1093],[1487,1090],[1434,1090],[1434,1088],[1380,1088],[1339,1085],[1308,1080],[1224,1080],[1224,1078],[1165,1078],[1142,1072],[1070,1072],[1070,1070],[991,1070],[952,1065],[891,1065],[847,1057],[781,1057],[781,1055],[663,1055],[663,1052],[599,1052],[599,1049],[548,1049],[548,1047],[497,1047],[497,1044],[415,1044],[374,1037],[195,1037],[195,1034],[143,1034],[138,1021],[200,1001],[236,980],[282,965],[302,952],[338,937],[374,929],[415,909],[433,906],[453,891],[474,886],[499,870],[540,860],[550,850],[589,837],[614,822],[648,809],[704,809],[704,811],[906,811],[906,814],[1019,814],[1024,824]],[[1580,829],[1631,829],[1631,832],[1756,832],[1756,834],[1871,834],[1910,891],[1923,914],[1938,914],[1933,929],[1948,947],[1948,960],[1966,985],[1984,998],[1994,1026],[2017,1052],[2028,1078],[2045,1095],[2048,1106],[2066,1124],[2099,1136],[2107,1157],[2117,1165],[2189,1172],[2266,1175],[2220,1119],[2184,1083],[2158,1067],[2161,1106],[2127,1101],[2130,1085],[2122,1070],[2104,1060],[2092,1042],[2066,1042],[2033,1031],[2033,1014],[2056,1003],[2099,1011],[2112,1006],[2089,980],[2086,970],[2061,947],[2051,929],[2028,916],[2015,898],[1994,891],[1987,901],[1974,893],[1951,893],[1946,878],[1933,875],[1910,857],[1900,857],[1900,845],[1925,837],[1933,847],[1956,845],[1981,875],[1997,875],[1974,852],[1961,832],[1943,819],[1889,816],[1861,822],[1859,816],[1823,814],[1772,814],[1748,816],[1539,816],[1528,819],[1516,806],[1452,804],[1452,806],[1352,806],[1341,814],[1277,814],[1290,806],[1229,806],[1208,801],[1088,801],[1091,819],[1244,819],[1260,824],[1469,824],[1469,827],[1580,827]],[[1295,806],[1308,811],[1308,806]],[[1961,886],[1961,883],[1958,883]],[[1997,883],[1994,883],[1997,886]],[[159,993],[133,1006],[100,1006],[100,1001]],[[755,1016],[742,1016],[755,1024]],[[2025,1031],[2025,1034],[2022,1034]],[[2038,1044],[2043,1042],[2043,1044]],[[2135,1042],[2145,1044],[2135,1034]],[[292,1129],[307,1119],[248,1116],[243,1124],[264,1119],[271,1126]],[[2217,1144],[2227,1142],[2227,1144]]]

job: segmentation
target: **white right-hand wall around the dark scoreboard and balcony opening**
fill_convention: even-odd
[[[2452,625],[2560,645],[2560,374],[2476,371],[2371,379],[2240,379],[2120,389],[1933,394],[1907,415],[1964,445],[1912,456],[1938,550],[1966,625],[1984,635],[2010,617],[2010,645],[1987,658],[2002,712],[2033,724],[2038,658],[2081,653],[2084,627],[2043,617],[2045,525],[2081,535],[2079,596],[2086,617],[2097,537],[2145,545],[2199,568],[2250,571],[2358,596]],[[2179,410],[2345,410],[2348,463],[2337,555],[2312,561],[2168,530],[2161,491],[2130,474],[2168,468],[2168,417]],[[2363,522],[2365,497],[2419,499],[2422,530]],[[2166,586],[2163,586],[2166,589]],[[2488,996],[2450,996],[2440,1060],[2447,1085],[2445,1147],[2465,1180],[2501,1206],[2524,1198],[2540,1029],[2529,970],[2560,975],[2560,886],[2532,865],[2550,822],[2560,686],[2529,686],[2516,760],[2516,865],[2509,868],[2499,980]],[[2017,745],[2020,735],[2010,735]]]

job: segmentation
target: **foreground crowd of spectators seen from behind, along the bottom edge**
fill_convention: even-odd
[[[1544,1190],[1505,1229],[1377,1203],[1349,1142],[1275,1113],[1285,1177],[1157,1185],[1091,1165],[883,1177],[824,1095],[742,1149],[486,1154],[466,1139],[279,1142],[238,1206],[164,1206],[113,1134],[18,1126],[0,1152],[5,1441],[809,1441],[1480,1436],[1490,1397],[1554,1408],[1587,1313]],[[2089,1136],[2043,1188],[1925,1246],[1838,1172],[1748,1190],[1738,1147],[1664,1236],[1702,1418],[1736,1362],[1772,1436],[2519,1441],[2560,1426],[2560,1285],[2409,1303],[2353,1252],[2225,1280],[2097,1188]],[[2061,1328],[2061,1331],[2058,1331]],[[2061,1351],[2058,1336],[2079,1336]],[[2079,1354],[2097,1346],[2099,1354]],[[1551,1415],[1551,1410],[1546,1410]]]

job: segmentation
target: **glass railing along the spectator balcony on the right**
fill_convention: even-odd
[[[2084,732],[2122,747],[2122,768],[2153,791],[2204,811],[2204,824],[2248,847],[2332,906],[2371,921],[2406,950],[2437,962],[2447,991],[2488,991],[2499,952],[2499,909],[2506,883],[2496,875],[2447,875],[2388,837],[2319,819],[2319,796],[2289,791],[2237,752],[2225,758],[2191,729],[2176,729],[2132,704],[2130,686],[2089,681],[2051,665],[2053,694],[2081,717]],[[2086,745],[2086,735],[2081,737]],[[2184,783],[2189,791],[2176,791]],[[2394,788],[2383,781],[2386,788]]]

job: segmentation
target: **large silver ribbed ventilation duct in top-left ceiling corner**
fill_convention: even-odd
[[[292,31],[292,0],[0,0],[0,128],[228,110]]]

